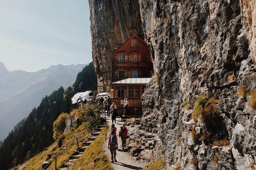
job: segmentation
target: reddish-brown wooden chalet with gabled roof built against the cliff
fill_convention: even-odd
[[[111,96],[117,107],[128,98],[130,108],[141,108],[141,95],[154,73],[147,43],[134,34],[111,52],[111,59]]]

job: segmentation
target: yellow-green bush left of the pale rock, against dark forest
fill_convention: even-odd
[[[53,139],[56,140],[65,130],[66,120],[69,114],[61,113],[53,123]]]

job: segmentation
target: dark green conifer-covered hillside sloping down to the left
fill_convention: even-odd
[[[97,88],[97,77],[92,63],[78,73],[73,87],[66,90],[60,87],[51,95],[45,96],[40,105],[22,120],[23,123],[19,123],[19,126],[9,133],[0,148],[0,170],[24,162],[54,142],[53,122],[61,112],[70,112],[72,96],[77,92]]]

